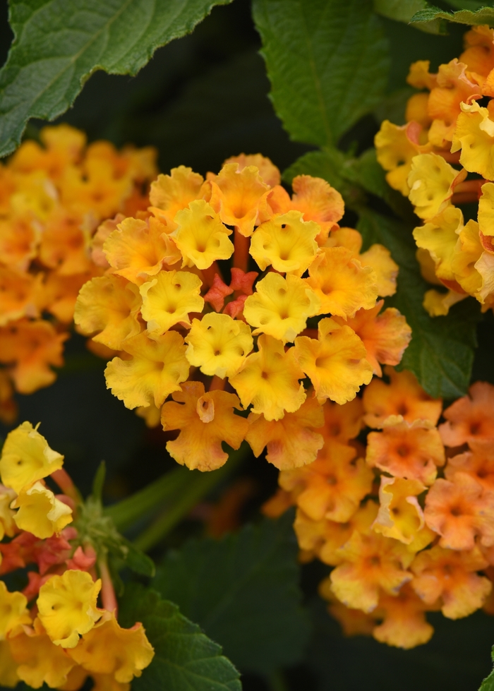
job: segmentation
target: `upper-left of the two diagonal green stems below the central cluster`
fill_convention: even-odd
[[[113,519],[116,528],[120,531],[126,530],[171,495],[178,494],[181,488],[190,481],[190,471],[185,468],[176,468],[130,497],[105,507],[104,514]]]

